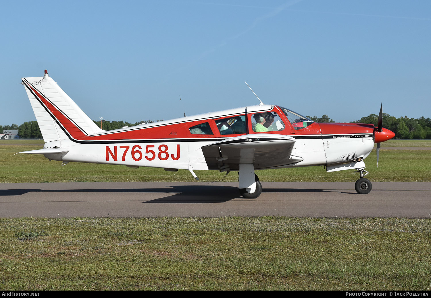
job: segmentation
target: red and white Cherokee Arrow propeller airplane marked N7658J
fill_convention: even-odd
[[[240,194],[256,198],[262,193],[255,170],[325,166],[326,171],[355,170],[355,189],[368,194],[364,159],[374,143],[394,132],[359,123],[315,123],[287,108],[263,104],[211,112],[156,123],[105,131],[72,101],[48,76],[22,78],[45,144],[40,150],[49,160],[105,163],[167,171],[239,171]],[[254,92],[253,92],[254,93]],[[257,96],[257,95],[256,95]],[[378,149],[377,149],[378,158]]]

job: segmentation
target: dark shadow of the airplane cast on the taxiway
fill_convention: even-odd
[[[5,189],[0,192],[2,196],[21,196],[27,193],[160,193],[169,194],[142,203],[223,203],[232,199],[244,199],[240,196],[237,187],[220,185],[170,185],[166,188],[86,188],[86,189]],[[265,193],[318,193],[337,192],[352,194],[341,190],[322,190],[307,188],[265,188],[261,196]],[[356,193],[355,193],[356,194]],[[258,200],[259,198],[257,198]],[[244,199],[253,200],[253,199]],[[254,199],[256,200],[256,199]],[[91,201],[91,200],[88,200]],[[107,198],[112,201],[112,197]],[[119,199],[121,201],[121,199]]]

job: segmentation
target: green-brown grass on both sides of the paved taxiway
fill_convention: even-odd
[[[35,141],[0,142],[1,182],[194,181],[186,170],[13,155],[41,148]],[[375,152],[365,160],[367,178],[430,181],[430,157],[382,144],[378,168]],[[358,178],[323,167],[257,173],[262,181]],[[430,219],[405,218],[0,218],[0,290],[430,290],[430,233]]]

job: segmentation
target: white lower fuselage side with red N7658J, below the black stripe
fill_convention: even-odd
[[[61,142],[61,144],[60,144]],[[148,140],[133,143],[79,144],[71,140],[51,141],[44,148],[62,147],[66,154],[46,154],[51,160],[62,162],[103,163],[123,166],[148,166],[169,169],[207,170],[201,147],[214,143],[210,138],[200,141]],[[367,157],[372,151],[372,138],[299,138],[292,156],[303,160],[286,166],[319,166],[342,164],[352,157]]]

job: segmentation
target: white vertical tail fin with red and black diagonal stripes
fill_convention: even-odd
[[[104,132],[48,76],[46,70],[43,77],[21,80],[45,142],[69,138],[69,129],[79,129],[84,135]],[[62,119],[58,117],[60,113]]]

